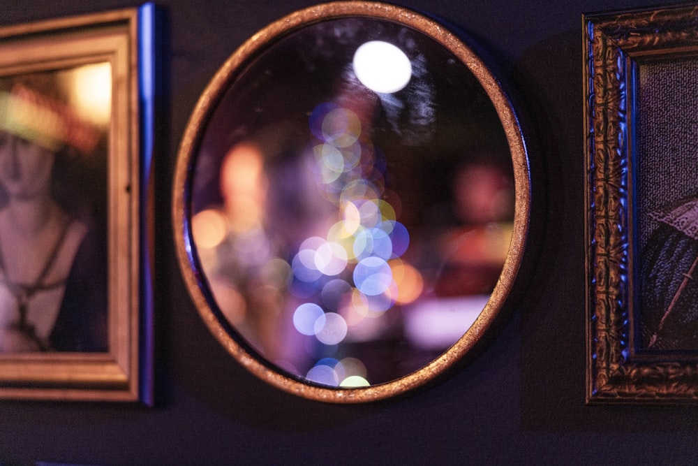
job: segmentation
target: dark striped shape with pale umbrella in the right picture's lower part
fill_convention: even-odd
[[[640,261],[643,347],[698,349],[698,198],[650,217],[660,224]]]

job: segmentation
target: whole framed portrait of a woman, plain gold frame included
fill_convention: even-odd
[[[0,29],[0,398],[152,401],[154,21]]]

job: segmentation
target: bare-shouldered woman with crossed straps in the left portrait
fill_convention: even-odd
[[[0,351],[106,351],[105,241],[57,183],[98,135],[52,73],[0,85]]]

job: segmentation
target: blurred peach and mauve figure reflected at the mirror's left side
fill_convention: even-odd
[[[197,214],[193,224],[221,312],[248,343],[279,365],[293,364],[297,350],[287,341],[295,333],[286,331],[290,318],[283,315],[295,308],[288,303],[293,299],[287,290],[288,263],[309,231],[325,221],[327,210],[295,133],[294,127],[279,124],[232,145],[221,162],[222,204]],[[222,224],[218,239],[209,242],[211,227],[198,219],[211,212],[218,212]]]

